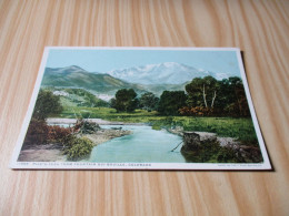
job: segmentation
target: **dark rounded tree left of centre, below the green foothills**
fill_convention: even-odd
[[[117,91],[116,99],[111,100],[111,107],[118,112],[132,112],[138,106],[137,93],[132,89],[122,89]]]

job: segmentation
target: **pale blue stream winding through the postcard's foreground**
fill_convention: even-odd
[[[90,162],[106,163],[185,163],[182,138],[167,131],[156,131],[147,125],[101,125],[102,128],[122,127],[133,133],[117,137],[93,147]]]

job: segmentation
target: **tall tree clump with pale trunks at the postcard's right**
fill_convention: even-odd
[[[196,115],[190,110],[211,109],[215,116],[250,116],[249,106],[240,78],[231,76],[217,81],[212,76],[196,78],[186,85],[188,93],[183,115]],[[206,112],[205,112],[206,115]]]

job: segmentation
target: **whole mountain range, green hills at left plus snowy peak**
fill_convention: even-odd
[[[229,73],[202,71],[176,62],[149,64],[108,73],[88,72],[77,65],[46,68],[42,86],[84,89],[93,94],[114,95],[120,89],[133,89],[138,94],[152,92],[158,96],[165,91],[185,90],[193,78],[229,78]]]

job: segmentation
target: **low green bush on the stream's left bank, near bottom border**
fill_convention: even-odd
[[[64,144],[66,150],[64,154],[67,154],[68,160],[78,161],[87,157],[92,148],[93,144],[87,137],[77,137],[77,136],[69,136],[69,141]]]

